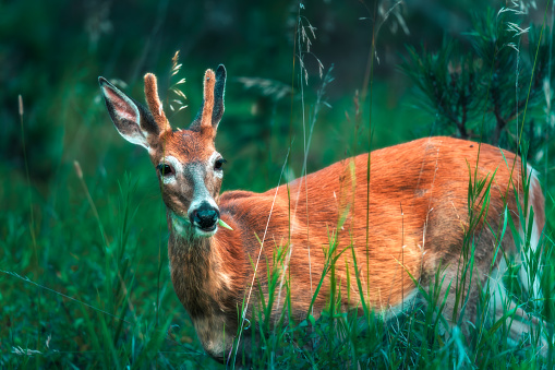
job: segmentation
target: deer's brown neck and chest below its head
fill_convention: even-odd
[[[194,232],[177,232],[171,224],[170,230],[168,254],[173,289],[205,350],[215,358],[224,358],[232,345],[232,336],[224,333],[237,330],[234,305],[238,287],[244,284],[237,268],[241,265],[240,253],[233,253],[240,250],[233,240],[240,238],[227,234],[220,237],[222,230],[210,238],[197,238]]]

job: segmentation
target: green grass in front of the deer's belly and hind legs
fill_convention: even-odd
[[[471,178],[472,169],[469,168],[469,178]],[[310,312],[302,322],[294,322],[288,317],[289,312],[289,298],[288,294],[288,278],[286,276],[286,299],[283,303],[283,311],[281,319],[270,325],[268,318],[272,312],[272,301],[275,299],[278,289],[278,283],[283,271],[283,264],[287,263],[285,255],[287,254],[287,246],[278,246],[275,249],[274,260],[272,261],[272,268],[268,268],[268,301],[265,302],[265,297],[262,295],[260,307],[256,307],[254,317],[257,320],[249,322],[251,335],[256,336],[260,341],[260,346],[251,353],[248,362],[254,368],[445,368],[448,365],[450,368],[469,368],[476,367],[483,368],[552,368],[555,355],[553,342],[543,342],[543,335],[553,338],[553,326],[547,324],[540,324],[532,329],[531,333],[522,333],[521,342],[518,344],[509,344],[507,342],[508,331],[514,323],[512,320],[519,320],[515,315],[515,310],[510,309],[510,298],[503,301],[505,314],[498,320],[492,320],[487,310],[487,306],[492,297],[484,293],[479,299],[479,310],[476,317],[470,317],[464,313],[464,303],[468,299],[469,281],[471,275],[475,274],[474,271],[474,250],[475,242],[479,240],[479,229],[481,220],[487,214],[488,198],[491,186],[494,181],[494,176],[484,179],[475,179],[469,181],[469,208],[474,210],[469,214],[468,229],[464,232],[464,247],[461,251],[459,263],[460,275],[454,282],[445,281],[444,271],[446,266],[439,266],[432,278],[430,286],[420,286],[415,279],[414,283],[419,286],[421,299],[413,303],[398,317],[389,315],[389,320],[384,320],[384,314],[378,314],[367,307],[362,299],[362,307],[358,309],[342,312],[340,309],[340,290],[334,289],[335,265],[342,263],[342,253],[349,253],[352,246],[343,250],[338,250],[337,232],[330,232],[329,246],[325,249],[326,262],[324,264],[324,272],[319,279],[315,281],[314,297],[318,294],[318,288],[324,279],[329,279],[331,290],[327,297],[327,306],[322,318],[314,321]],[[528,183],[527,176],[522,178],[522,182]],[[528,193],[528,186],[524,186],[524,194]],[[527,200],[522,200],[524,207],[519,208],[519,219],[523,225],[527,219]],[[342,217],[340,217],[341,219]],[[507,226],[510,224],[510,227]],[[341,227],[341,220],[337,225],[337,229]],[[485,226],[488,227],[488,226]],[[512,237],[518,240],[518,248],[522,253],[528,253],[530,246],[530,232],[524,228],[524,238],[520,235],[512,220],[506,218],[504,227],[499,230],[492,230],[498,239],[497,253],[504,253],[500,249],[500,240],[507,237],[507,234],[512,232]],[[520,286],[517,282],[516,274],[518,274],[519,264],[512,266],[512,270],[505,281],[509,290],[514,294],[511,298],[516,299],[519,307],[523,307],[531,314],[538,318],[543,318],[545,323],[553,323],[553,293],[555,285],[553,284],[554,268],[550,264],[553,261],[553,241],[544,238],[542,241],[544,246],[543,253],[536,252],[532,261],[540,261],[540,253],[542,253],[545,263],[543,270],[542,287],[543,299],[540,302],[534,297],[526,296],[526,294],[517,293]],[[266,247],[267,248],[267,247]],[[353,267],[359,271],[360,264],[357,262],[353,253]],[[515,261],[509,259],[509,262]],[[253,266],[254,267],[254,266]],[[492,267],[493,268],[493,263]],[[538,265],[530,263],[527,266],[528,274],[533,281],[538,272]],[[491,273],[491,271],[490,271]],[[355,276],[358,284],[358,291],[362,296],[364,294],[363,283]],[[514,284],[511,288],[511,284]],[[459,307],[458,321],[455,320],[456,325],[450,326],[447,324],[446,319],[456,319],[445,317],[443,308],[447,295],[442,295],[442,286],[456,285],[455,293],[456,300]],[[475,287],[474,287],[475,288]],[[488,287],[484,286],[484,291]],[[350,288],[347,289],[347,293]],[[310,310],[309,310],[310,311]],[[457,311],[456,311],[457,312]],[[362,314],[361,314],[362,313]],[[387,313],[386,313],[387,314]],[[464,322],[473,323],[470,330],[470,335],[466,337],[462,335],[460,327]],[[254,338],[253,338],[254,341]],[[553,341],[553,339],[552,339]],[[540,355],[540,347],[548,345],[548,348],[543,348],[544,354]],[[236,349],[237,350],[237,349]],[[239,361],[244,362],[244,357],[241,357],[239,350]],[[542,357],[543,356],[543,357]],[[243,362],[241,362],[243,360]],[[233,363],[231,361],[230,363]]]

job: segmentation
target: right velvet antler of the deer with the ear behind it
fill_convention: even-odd
[[[198,114],[189,127],[191,131],[210,132],[216,135],[224,116],[224,94],[226,91],[226,68],[219,64],[216,73],[207,70],[204,74],[204,97]]]

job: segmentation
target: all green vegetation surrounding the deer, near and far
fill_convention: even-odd
[[[511,8],[522,13],[498,13],[493,1],[487,13],[483,1],[470,0],[412,8],[388,1],[198,3],[1,3],[0,367],[222,368],[204,354],[173,293],[165,207],[148,158],[119,138],[96,83],[98,75],[119,80],[141,98],[141,75],[156,72],[167,86],[170,120],[184,128],[202,98],[203,70],[219,62],[230,76],[217,139],[229,160],[225,190],[267,190],[281,174],[288,181],[353,154],[434,134],[481,138],[524,154],[546,194],[543,301],[521,291],[518,266],[505,279],[519,305],[555,322],[553,1]],[[478,14],[474,26],[468,9]],[[450,28],[434,15],[439,11],[450,14]],[[535,25],[521,32],[531,20]],[[507,31],[510,24],[518,27]],[[444,35],[457,41],[443,43]],[[421,39],[424,51],[414,46]],[[172,62],[176,49],[180,57]],[[399,55],[410,79],[396,72]],[[405,93],[411,83],[414,95]],[[473,181],[469,202],[486,199],[487,181]],[[526,207],[519,216],[526,219]],[[518,237],[509,222],[498,237],[508,234]],[[529,237],[518,240],[530,248]],[[336,247],[331,232],[322,278],[335,278],[336,256],[345,252]],[[281,246],[266,262],[275,272],[270,290],[286,254]],[[472,254],[462,263],[471,266]],[[534,276],[539,267],[527,268]],[[505,323],[482,317],[464,318],[476,323],[470,343],[458,326],[444,333],[442,284],[438,271],[436,284],[422,287],[427,305],[391,320],[367,307],[362,317],[341,312],[338,296],[346,293],[336,291],[318,321],[294,322],[285,310],[273,325],[265,322],[267,302],[243,326],[257,330],[263,342],[252,365],[553,368],[553,344],[546,357],[538,354],[540,335],[553,337],[552,325],[540,325],[516,346],[505,341]],[[287,294],[283,300],[287,307]],[[240,350],[233,356],[246,360]]]

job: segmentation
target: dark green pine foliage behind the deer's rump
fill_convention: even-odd
[[[544,84],[555,82],[553,29],[522,23],[516,10],[488,9],[473,16],[473,31],[466,34],[470,48],[449,38],[436,52],[407,47],[401,70],[414,82],[419,103],[437,115],[433,133],[481,140],[514,152],[524,134],[530,157],[546,144],[554,129],[536,120],[545,104]],[[527,110],[532,115],[527,117]]]

